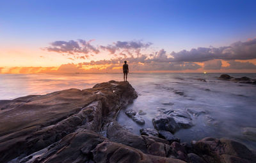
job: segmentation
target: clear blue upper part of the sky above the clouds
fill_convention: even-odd
[[[1,1],[1,43],[143,39],[171,51],[229,45],[255,37],[255,6],[256,1]]]

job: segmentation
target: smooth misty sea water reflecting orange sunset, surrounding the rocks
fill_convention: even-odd
[[[230,75],[256,78],[252,73]],[[256,150],[256,142],[243,134],[245,127],[256,127],[256,85],[218,80],[218,76],[220,73],[130,73],[128,81],[139,96],[120,111],[117,120],[140,134],[141,128],[154,128],[152,118],[161,110],[201,111],[200,115],[189,113],[193,127],[175,132],[182,142],[206,136],[225,137]],[[111,73],[0,74],[0,99],[70,88],[88,89],[104,81],[122,81],[122,77]],[[125,115],[130,109],[146,113],[141,115],[145,125],[138,125]]]

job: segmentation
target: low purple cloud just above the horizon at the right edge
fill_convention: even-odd
[[[230,64],[225,69],[256,69],[256,65],[251,62],[239,62],[235,60],[228,61]]]

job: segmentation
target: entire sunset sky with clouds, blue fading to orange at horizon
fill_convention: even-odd
[[[0,73],[256,73],[255,6],[0,0]]]

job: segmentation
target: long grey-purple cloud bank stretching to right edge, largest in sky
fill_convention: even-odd
[[[173,62],[204,62],[212,59],[248,60],[256,59],[256,38],[241,42],[237,41],[230,46],[220,48],[193,48],[190,51],[170,53]]]

